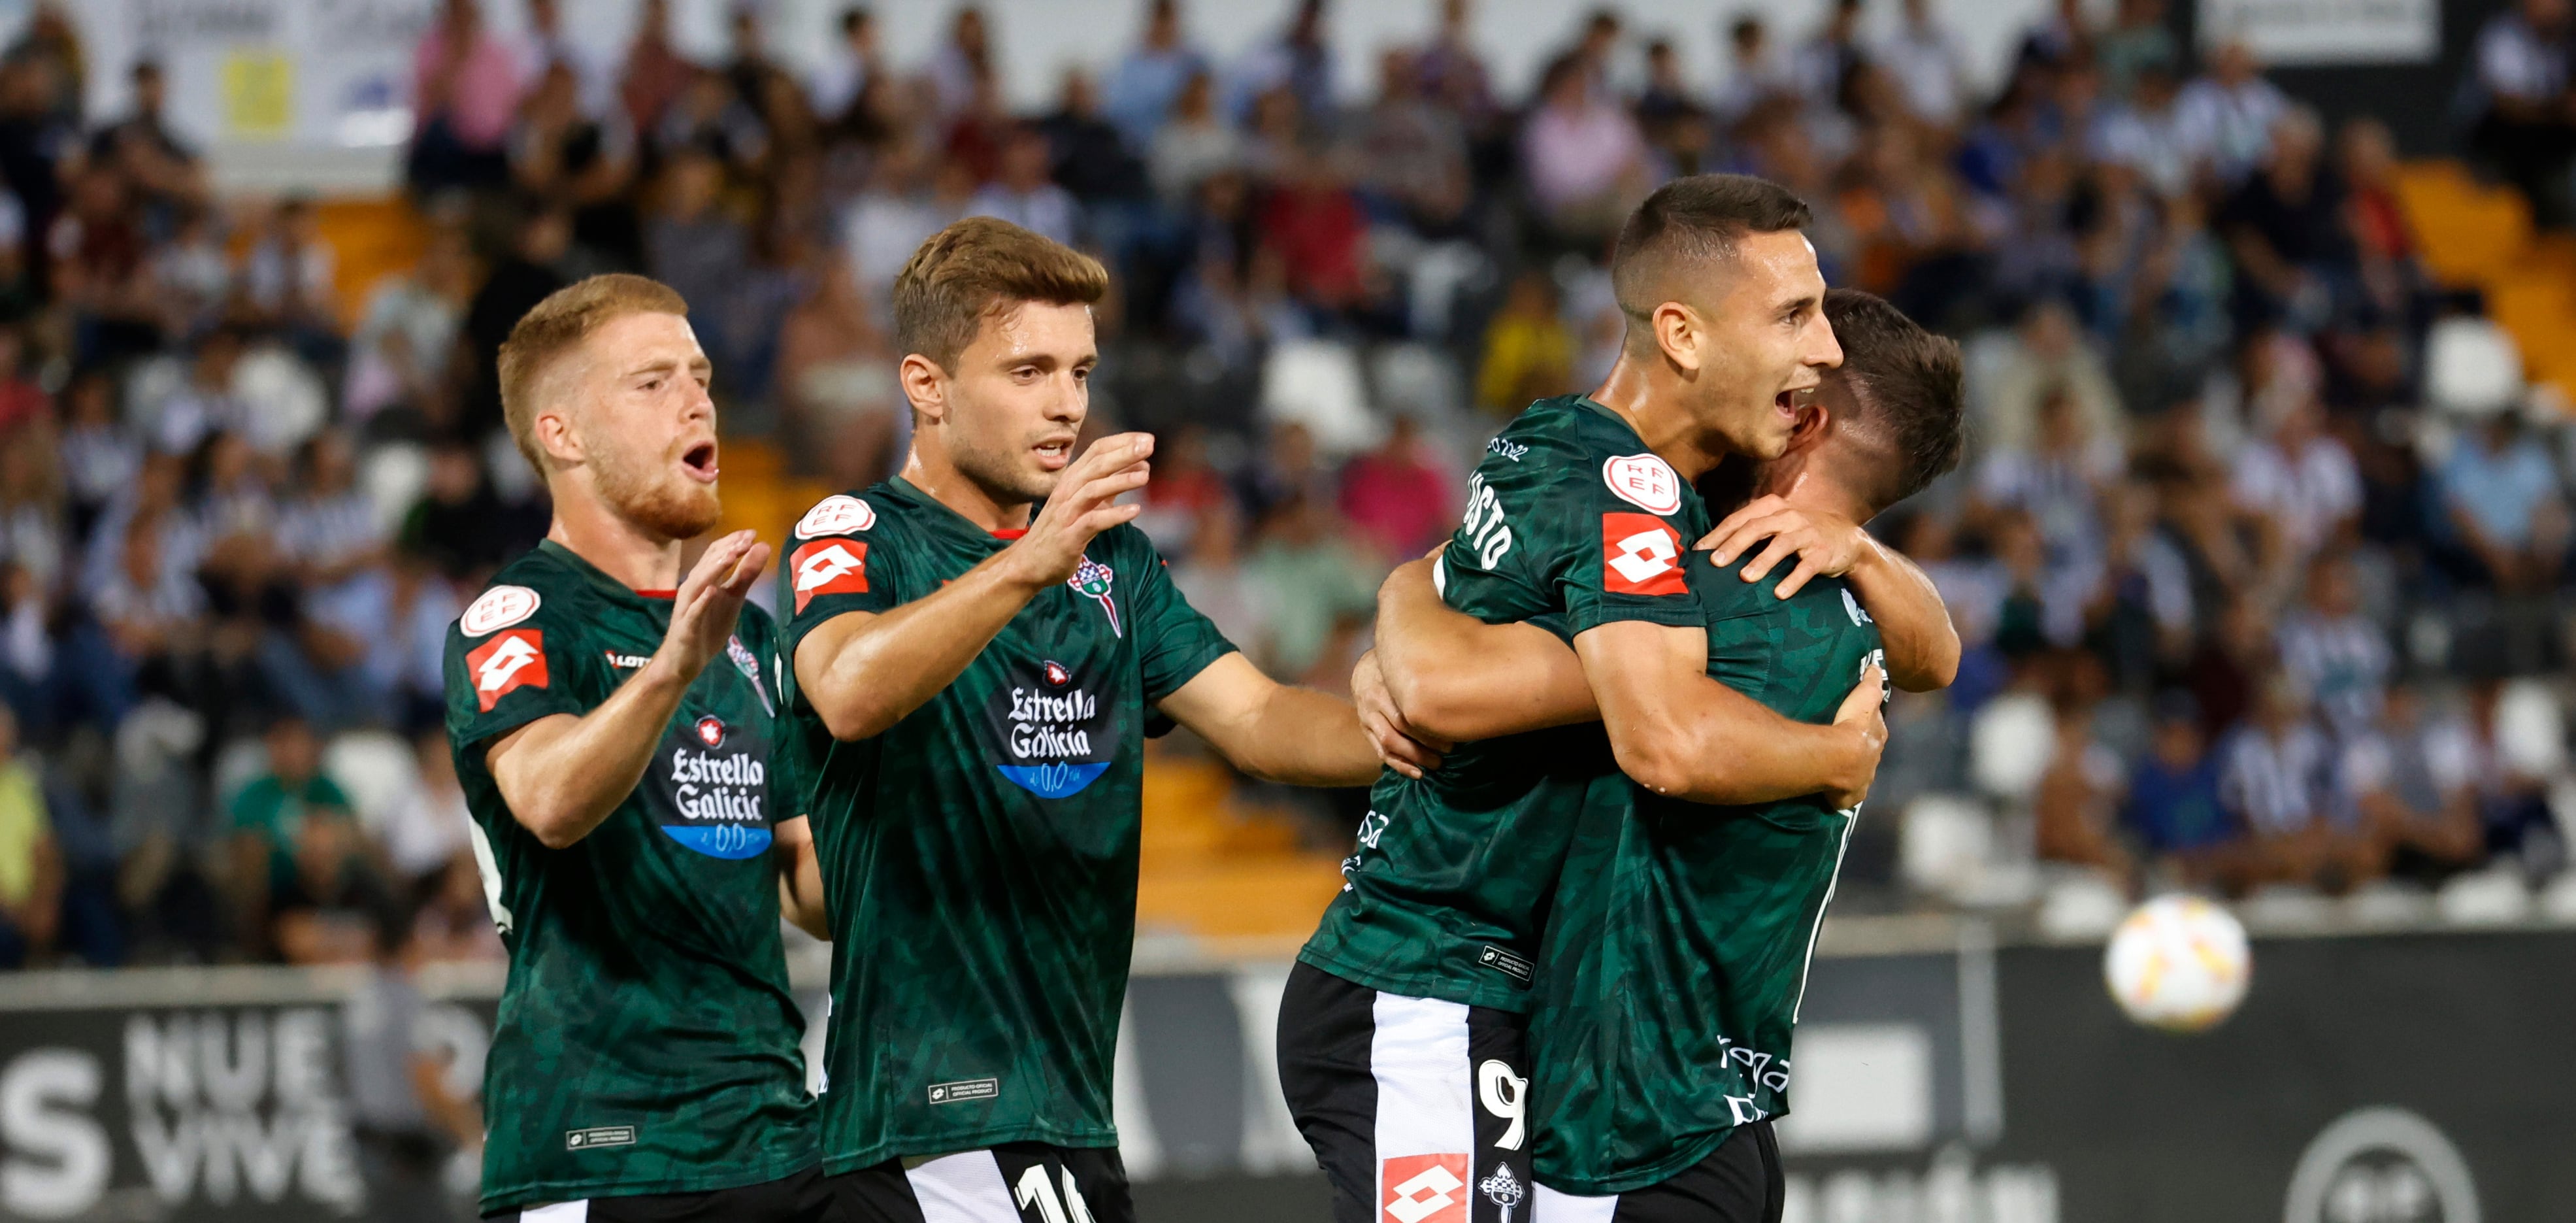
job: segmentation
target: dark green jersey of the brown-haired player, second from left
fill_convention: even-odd
[[[904,479],[824,497],[781,569],[786,649],[835,615],[922,600],[1005,546]],[[1121,525],[873,739],[835,742],[788,685],[835,929],[824,1172],[1118,1143],[1146,721],[1231,651]]]

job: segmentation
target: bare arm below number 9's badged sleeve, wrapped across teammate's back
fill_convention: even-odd
[[[1814,726],[1710,680],[1703,628],[1613,621],[1577,636],[1574,654],[1620,772],[1654,793],[1770,803],[1824,790],[1852,806],[1878,775],[1888,726],[1875,672],[1862,677],[1868,703],[1844,700],[1844,716]]]

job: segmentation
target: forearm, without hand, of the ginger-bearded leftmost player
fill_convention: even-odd
[[[510,816],[549,850],[590,837],[644,780],[690,680],[654,654],[590,713],[538,718],[495,742],[487,765]]]

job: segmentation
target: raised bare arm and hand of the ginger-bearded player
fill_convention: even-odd
[[[590,837],[644,780],[680,695],[734,636],[770,546],[750,530],[719,538],[680,582],[662,649],[590,713],[536,718],[484,749],[510,814],[549,850]]]

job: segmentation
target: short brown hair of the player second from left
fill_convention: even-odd
[[[1110,291],[1100,260],[997,216],[930,234],[894,273],[894,345],[956,373],[987,314],[1023,301],[1090,306]]]

